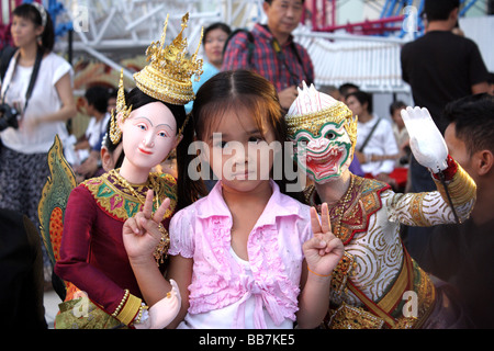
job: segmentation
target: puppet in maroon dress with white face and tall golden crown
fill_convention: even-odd
[[[124,228],[143,215],[153,222],[159,235],[150,258],[158,272],[164,272],[170,242],[167,227],[179,202],[180,185],[171,174],[154,168],[173,149],[179,151],[189,120],[184,104],[194,99],[191,76],[202,75],[199,46],[189,55],[182,35],[188,21],[187,13],[181,32],[165,45],[167,16],[160,41],[146,50],[149,64],[134,75],[136,87],[127,94],[121,72],[109,137],[115,145],[122,139],[125,158],[121,168],[85,181],[68,197],[60,259],[55,265],[68,288],[57,328],[161,329],[180,309],[181,296],[173,281],[167,282],[166,297],[146,305],[133,267],[133,235],[126,235]],[[180,152],[187,148],[180,145]],[[90,301],[89,318],[72,314],[81,292]]]

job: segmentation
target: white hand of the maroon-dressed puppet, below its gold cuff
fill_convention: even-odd
[[[148,310],[147,319],[135,325],[136,329],[164,329],[177,317],[182,298],[177,283],[171,279],[171,291]]]

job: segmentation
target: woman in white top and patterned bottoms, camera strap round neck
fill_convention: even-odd
[[[67,139],[65,123],[76,115],[72,68],[52,52],[53,22],[41,4],[19,5],[11,24],[16,52],[1,83],[1,102],[16,109],[18,115],[0,132],[0,203],[25,214],[38,228],[37,205],[49,176],[47,152],[57,134]],[[35,68],[36,80],[26,98]],[[44,267],[46,283],[52,272],[46,253]]]

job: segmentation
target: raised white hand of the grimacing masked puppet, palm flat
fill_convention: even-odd
[[[406,107],[401,112],[409,135],[409,147],[418,163],[438,173],[448,168],[448,147],[427,109]]]

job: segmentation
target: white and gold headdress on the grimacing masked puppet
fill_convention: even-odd
[[[324,124],[345,122],[345,129],[355,147],[357,143],[357,117],[353,117],[351,110],[341,101],[318,92],[313,84],[307,88],[305,81],[302,83],[303,89],[297,88],[299,97],[292,103],[285,116],[289,135],[294,136],[296,132],[303,129],[317,136]]]

